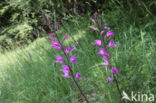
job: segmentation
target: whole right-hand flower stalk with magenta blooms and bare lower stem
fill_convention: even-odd
[[[120,95],[120,100],[121,102],[123,103],[126,103],[125,100],[122,100],[122,94],[121,94],[121,91],[120,91],[120,88],[119,88],[119,81],[117,79],[117,76],[118,76],[118,69],[117,68],[113,68],[112,65],[111,65],[111,62],[110,62],[110,56],[109,56],[109,52],[108,52],[108,49],[110,47],[116,47],[118,46],[118,44],[114,44],[114,42],[111,40],[108,45],[106,45],[106,38],[103,37],[103,34],[107,31],[106,34],[106,37],[109,38],[111,36],[114,36],[114,32],[112,32],[110,30],[110,27],[107,27],[105,26],[104,27],[104,30],[101,29],[102,26],[101,26],[101,22],[99,23],[98,22],[98,15],[94,16],[95,20],[93,18],[91,18],[91,21],[96,25],[96,27],[91,27],[90,29],[94,30],[94,31],[98,31],[100,34],[101,34],[101,40],[96,40],[94,44],[96,44],[97,46],[102,46],[102,49],[99,49],[99,52],[98,54],[100,55],[103,55],[104,58],[105,58],[105,62],[101,65],[103,66],[108,66],[111,70],[111,73],[113,75],[113,80],[115,81],[115,84],[116,84],[116,88],[118,90],[118,93]],[[93,29],[94,28],[94,29]],[[101,43],[101,44],[100,44]],[[107,82],[111,82],[112,81],[112,78],[111,77],[108,77],[107,78]]]

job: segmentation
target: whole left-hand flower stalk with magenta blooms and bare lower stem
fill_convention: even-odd
[[[57,24],[56,30],[59,30],[59,25],[58,24]],[[66,65],[62,65],[63,69],[61,69],[61,71],[64,72],[64,75],[62,75],[62,77],[71,78],[73,80],[74,84],[76,85],[76,87],[78,88],[80,94],[84,97],[86,103],[89,103],[87,97],[83,93],[80,85],[78,84],[78,82],[76,80],[76,79],[79,79],[79,80],[82,79],[82,77],[80,77],[80,73],[79,72],[76,73],[76,76],[75,76],[74,71],[72,70],[71,63],[75,63],[77,61],[76,55],[72,56],[71,58],[68,55],[69,53],[72,53],[72,51],[75,50],[76,47],[74,46],[74,48],[70,50],[70,46],[67,46],[66,49],[65,49],[62,42],[61,42],[61,40],[58,37],[57,32],[55,30],[53,31],[53,34],[49,33],[49,35],[56,38],[56,40],[55,39],[50,39],[50,40],[52,40],[53,48],[56,49],[56,50],[61,50],[63,52],[64,56],[65,56],[65,59],[66,59],[66,62],[65,62]],[[65,40],[68,37],[68,35],[69,34],[66,34],[64,36],[63,40]],[[57,63],[63,63],[64,62],[62,57],[56,56],[56,58],[57,58],[57,60],[56,60]]]

